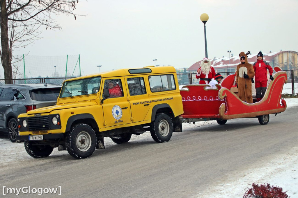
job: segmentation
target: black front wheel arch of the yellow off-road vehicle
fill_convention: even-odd
[[[70,131],[72,129],[72,126],[84,123],[90,125],[94,131],[98,131],[99,127],[97,125],[97,122],[95,121],[93,115],[91,114],[77,114],[69,117],[66,123],[66,129],[65,132]]]

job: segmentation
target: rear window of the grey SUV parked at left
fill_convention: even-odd
[[[32,100],[37,101],[50,101],[57,100],[61,88],[49,88],[49,89],[33,89],[30,91],[30,97]]]

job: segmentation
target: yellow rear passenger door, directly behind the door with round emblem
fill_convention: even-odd
[[[131,117],[133,122],[144,121],[151,107],[145,86],[145,76],[125,77],[128,100],[131,106]]]

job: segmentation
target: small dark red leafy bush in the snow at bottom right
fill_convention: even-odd
[[[249,188],[248,191],[245,192],[243,198],[289,198],[286,192],[287,191],[283,192],[283,188],[276,186],[271,187],[268,183],[267,185],[261,184],[260,186],[252,183],[252,188]]]

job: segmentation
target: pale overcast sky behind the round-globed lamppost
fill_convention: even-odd
[[[58,16],[62,30],[44,30],[42,39],[16,54],[80,54],[84,74],[154,65],[190,67],[205,57],[241,51],[263,54],[298,51],[297,0],[82,0],[75,12]],[[57,68],[58,69],[58,68]]]

